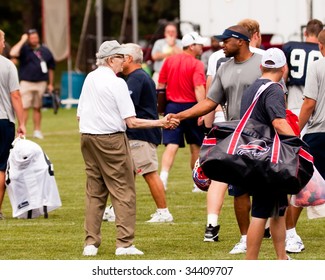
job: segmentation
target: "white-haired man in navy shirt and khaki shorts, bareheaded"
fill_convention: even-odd
[[[128,54],[123,64],[123,74],[129,88],[137,118],[158,119],[156,86],[142,69],[143,53],[136,44],[125,44]],[[167,208],[165,189],[158,175],[157,146],[161,143],[160,128],[126,130],[131,146],[136,173],[147,182],[157,210],[150,223],[172,222],[173,216]]]

